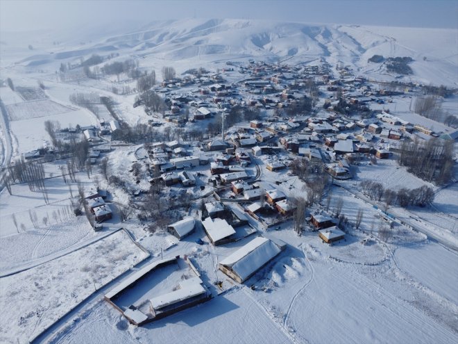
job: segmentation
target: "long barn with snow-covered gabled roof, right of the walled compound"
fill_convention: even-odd
[[[223,259],[220,264],[232,268],[244,281],[280,252],[280,247],[273,241],[258,236]]]

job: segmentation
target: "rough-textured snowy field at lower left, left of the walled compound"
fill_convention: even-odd
[[[30,341],[146,256],[124,231],[117,231],[59,259],[3,277],[0,304],[10,306],[0,315],[1,341]]]

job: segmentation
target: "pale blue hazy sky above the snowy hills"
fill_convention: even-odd
[[[5,31],[189,17],[458,28],[458,0],[0,0]]]

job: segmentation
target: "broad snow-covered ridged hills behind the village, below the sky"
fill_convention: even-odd
[[[180,61],[186,61],[187,69],[189,65],[195,67],[241,58],[289,60],[289,63],[325,58],[331,65],[350,66],[357,74],[378,79],[402,78],[450,86],[458,83],[458,33],[452,29],[187,19],[153,22],[135,31],[120,26],[117,31],[121,33],[114,34],[114,28],[98,29],[96,33],[86,28],[80,32],[81,37],[72,31],[67,36],[67,43],[64,40],[60,46],[46,47],[42,51],[22,51],[27,55],[17,60],[15,54],[14,62],[32,67],[116,52],[120,56],[144,58],[143,65],[149,65],[151,60],[157,67],[169,63],[180,70]],[[4,41],[3,53],[11,44],[8,38]],[[83,47],[82,41],[86,42]],[[38,41],[38,44],[43,42]],[[375,54],[385,58],[413,58],[409,64],[413,74],[390,74],[383,63],[368,63],[368,58]]]

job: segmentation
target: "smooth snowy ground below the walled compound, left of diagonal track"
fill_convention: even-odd
[[[101,302],[55,343],[92,341],[88,326],[96,327],[96,338],[119,338],[114,343],[291,343],[290,334],[244,288],[144,327],[127,325],[117,311]],[[113,337],[113,331],[119,336]]]

